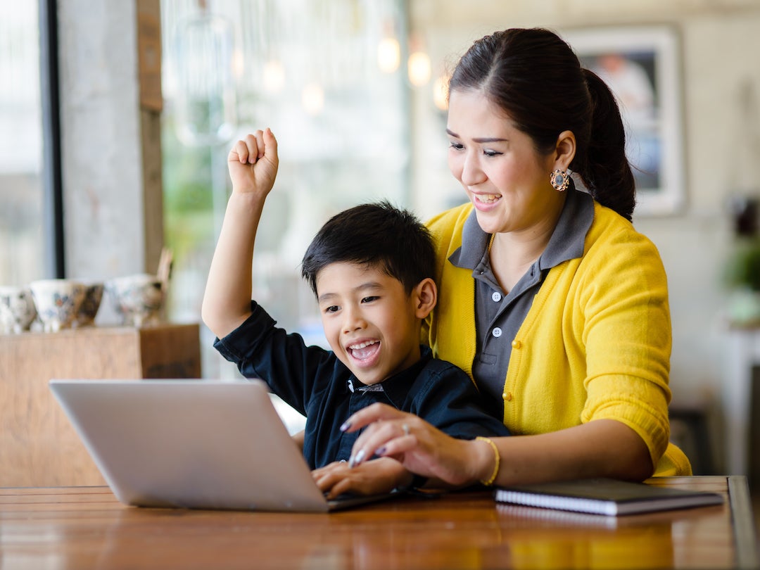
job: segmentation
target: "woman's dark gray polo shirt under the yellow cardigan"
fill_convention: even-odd
[[[491,270],[489,233],[477,223],[475,211],[464,223],[462,245],[448,258],[458,268],[471,269],[475,280],[475,324],[477,350],[473,376],[486,395],[489,413],[504,416],[504,381],[512,340],[530,310],[534,296],[549,269],[583,256],[584,242],[594,221],[594,200],[586,192],[568,188],[565,206],[546,249],[515,287],[504,293]]]

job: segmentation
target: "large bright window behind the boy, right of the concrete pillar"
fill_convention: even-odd
[[[312,236],[345,207],[380,198],[408,205],[404,28],[399,0],[162,2],[173,318],[199,318],[232,141],[271,127],[280,169],[256,239],[253,293],[280,326],[324,343],[299,272]],[[225,365],[213,349],[204,353],[204,375],[225,375]]]

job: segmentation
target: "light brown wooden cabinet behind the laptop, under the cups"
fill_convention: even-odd
[[[0,486],[104,485],[50,378],[199,378],[198,325],[0,335]]]

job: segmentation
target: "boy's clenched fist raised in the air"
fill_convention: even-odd
[[[274,186],[279,164],[277,139],[269,128],[246,135],[227,155],[233,192],[258,192],[262,198],[266,197]]]

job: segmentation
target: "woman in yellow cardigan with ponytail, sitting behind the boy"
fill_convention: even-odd
[[[556,34],[513,29],[474,43],[448,97],[448,165],[469,202],[429,223],[440,296],[423,337],[513,436],[456,441],[375,405],[344,426],[369,426],[353,458],[451,485],[690,474],[668,441],[666,275],[630,222],[613,94]]]

